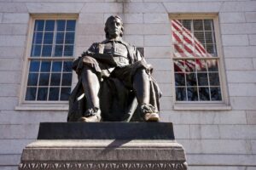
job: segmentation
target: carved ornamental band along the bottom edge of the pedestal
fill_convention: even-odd
[[[186,161],[94,161],[94,162],[73,162],[73,161],[42,161],[42,162],[23,162],[20,163],[20,170],[31,169],[83,169],[83,170],[186,170],[188,164]]]

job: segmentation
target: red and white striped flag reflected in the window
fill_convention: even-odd
[[[199,59],[212,58],[212,55],[207,53],[201,42],[179,20],[172,20],[172,41],[174,57],[179,58],[173,60],[177,71],[200,71],[207,66],[210,68],[216,65],[216,59]]]

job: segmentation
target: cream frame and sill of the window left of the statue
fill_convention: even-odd
[[[20,96],[19,103],[15,107],[15,110],[18,111],[67,111],[68,110],[68,101],[28,101],[25,100],[26,97],[26,83],[28,79],[29,73],[29,61],[30,59],[34,59],[31,57],[32,50],[32,38],[34,33],[34,25],[35,20],[76,20],[76,30],[74,37],[74,48],[73,48],[73,56],[72,57],[59,57],[58,59],[52,59],[51,57],[44,57],[44,59],[52,59],[52,60],[64,60],[68,59],[73,61],[76,56],[76,43],[77,43],[77,31],[78,31],[78,19],[79,14],[31,14],[29,20],[29,27],[27,31],[26,38],[26,50],[24,56],[24,65],[22,68],[22,81],[20,84]],[[42,59],[42,58],[37,58]],[[73,71],[72,76],[72,89],[74,88],[73,82],[77,79],[75,72]]]

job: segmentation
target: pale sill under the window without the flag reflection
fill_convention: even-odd
[[[23,104],[15,106],[15,111],[68,111],[68,104]]]

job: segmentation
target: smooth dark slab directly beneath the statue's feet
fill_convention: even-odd
[[[172,122],[41,122],[38,139],[175,139]]]

